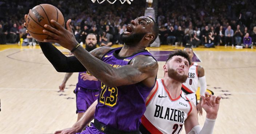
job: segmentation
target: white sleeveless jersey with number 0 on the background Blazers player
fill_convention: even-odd
[[[196,93],[198,87],[197,63],[193,63],[188,71],[187,81],[182,84],[182,90],[185,94]]]

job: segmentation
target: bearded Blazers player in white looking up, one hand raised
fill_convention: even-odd
[[[141,134],[180,134],[183,126],[186,134],[212,134],[219,110],[221,96],[205,92],[202,107],[206,111],[203,128],[199,126],[194,103],[181,91],[188,78],[191,62],[184,51],[169,55],[164,65],[164,78],[157,79],[155,87],[146,99],[146,111],[141,118]]]

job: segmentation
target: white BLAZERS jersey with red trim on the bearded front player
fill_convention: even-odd
[[[141,134],[180,134],[185,119],[192,110],[190,101],[183,92],[173,99],[164,87],[164,81],[157,79],[157,87],[146,102],[146,111],[141,118]]]

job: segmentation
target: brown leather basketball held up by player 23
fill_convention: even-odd
[[[50,21],[55,20],[64,27],[65,21],[58,8],[50,4],[40,4],[29,10],[27,16],[28,33],[38,41],[51,38],[43,33],[44,25],[51,25]]]

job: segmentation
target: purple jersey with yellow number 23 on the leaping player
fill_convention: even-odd
[[[101,60],[113,68],[130,64],[138,55],[153,57],[147,50],[134,53],[129,57],[119,57],[121,48],[107,52]],[[109,78],[111,81],[111,78]],[[139,129],[144,114],[145,99],[153,87],[149,88],[141,82],[118,87],[107,87],[101,83],[100,96],[95,111],[95,119],[99,122],[123,131]]]

